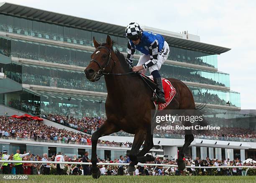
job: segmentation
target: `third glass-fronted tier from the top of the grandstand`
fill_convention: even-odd
[[[14,81],[20,84],[51,86],[51,87],[58,87],[58,88],[64,88],[64,89],[78,89],[78,90],[85,90],[85,91],[107,92],[105,81],[103,78],[97,82],[90,82],[85,78],[83,71],[71,71],[71,70],[68,71],[60,68],[48,68],[45,66],[38,66],[38,65],[32,65],[32,64],[18,65],[15,63],[0,64],[0,67],[4,69],[5,74],[7,75],[8,78],[13,79]],[[184,68],[177,69],[173,66],[166,66],[166,67],[172,68],[172,70],[175,70],[175,71],[179,71],[178,72],[179,74],[176,73],[177,77],[174,74],[167,74],[163,76],[176,77],[177,79],[180,79],[180,77],[182,76],[184,77],[184,74],[182,74],[182,69]],[[183,72],[185,72],[186,70],[189,70],[189,69],[184,69]],[[172,73],[172,71],[168,73]],[[187,80],[194,81],[191,78]],[[204,89],[204,88],[192,87],[192,86],[189,86],[189,89],[193,93],[195,102],[232,106],[232,107],[241,106],[240,94],[236,92],[218,91],[214,89]],[[59,104],[57,104],[57,106],[58,105]],[[41,106],[41,107],[44,108],[44,106]],[[52,111],[54,111],[54,109],[49,108],[49,111],[47,113]]]

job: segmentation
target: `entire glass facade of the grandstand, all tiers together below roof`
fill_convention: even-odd
[[[25,36],[63,41],[67,43],[93,46],[92,38],[105,42],[106,33],[92,30],[67,27],[44,23],[37,20],[18,18],[0,14],[0,31],[16,33]],[[110,35],[117,43],[113,47],[126,52],[127,39],[121,36]],[[56,42],[57,43],[57,42]],[[50,43],[25,41],[22,39],[0,37],[0,54],[16,58],[26,58],[34,61],[46,61],[56,64],[86,67],[93,52],[65,46],[56,46]],[[170,47],[169,60],[209,66],[217,68],[217,56],[200,51],[191,51],[184,48]],[[138,59],[134,59],[134,64]],[[104,79],[90,82],[84,76],[83,69],[61,69],[47,67],[43,64],[22,64],[13,61],[6,64],[0,60],[0,68],[8,78],[19,84],[48,86],[60,88],[60,92],[47,91],[19,91],[0,94],[0,103],[6,104],[31,114],[72,114],[102,116],[105,113],[105,97],[88,97],[82,94],[67,94],[61,89],[76,89],[82,91],[107,92]],[[65,66],[67,67],[67,66]],[[169,63],[161,67],[161,75],[165,78],[176,78],[201,84],[230,87],[229,74],[220,72],[203,71],[185,66],[172,66]],[[223,106],[240,107],[240,94],[233,91],[223,91],[189,86],[195,102],[216,104]],[[102,103],[103,102],[103,103]]]

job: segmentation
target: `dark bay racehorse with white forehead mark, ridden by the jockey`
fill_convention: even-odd
[[[106,43],[98,43],[93,38],[96,48],[92,54],[91,62],[84,70],[89,81],[97,81],[104,76],[108,96],[105,103],[107,119],[105,123],[92,134],[92,177],[99,178],[100,170],[97,168],[96,146],[98,139],[105,135],[123,130],[135,134],[130,152],[128,172],[135,170],[134,165],[138,162],[146,163],[154,161],[151,155],[144,156],[153,146],[153,135],[151,134],[151,109],[155,106],[150,98],[153,95],[138,73],[118,75],[131,72],[125,57],[119,51],[113,51],[113,41],[107,36]],[[195,102],[189,88],[177,79],[168,79],[176,94],[166,109],[195,109]],[[178,168],[184,170],[184,153],[190,143],[194,140],[192,132],[185,135],[185,142],[178,156]],[[139,152],[144,142],[143,149]]]

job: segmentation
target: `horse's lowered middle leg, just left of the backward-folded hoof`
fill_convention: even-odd
[[[129,154],[129,158],[132,162],[137,162],[137,154],[140,150],[140,147],[145,139],[145,130],[139,130],[135,136],[134,136],[134,140],[133,140],[133,145],[131,148],[131,152]],[[127,172],[133,172],[135,170],[134,165],[130,165],[128,166]]]

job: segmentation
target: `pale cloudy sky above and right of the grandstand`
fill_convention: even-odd
[[[0,2],[3,2],[0,0]],[[200,36],[231,48],[218,56],[230,74],[230,90],[241,93],[241,109],[256,109],[255,0],[6,0],[42,10],[126,26],[131,22]]]

